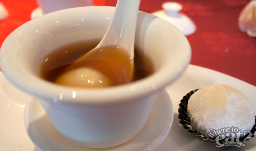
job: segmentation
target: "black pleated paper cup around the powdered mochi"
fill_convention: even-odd
[[[191,125],[191,121],[188,117],[188,100],[189,98],[191,97],[192,94],[194,94],[197,90],[199,89],[196,89],[196,90],[193,90],[193,91],[190,91],[188,94],[186,94],[180,101],[180,104],[179,104],[179,109],[178,109],[178,113],[179,113],[179,120],[180,120],[180,124],[188,130],[189,133],[191,134],[195,134],[196,136],[199,136],[201,137],[203,140],[210,140],[210,141],[215,141],[215,139],[210,139],[210,138],[207,138],[203,135],[201,135],[200,133],[197,133],[195,129],[193,129],[192,125]],[[253,125],[253,128],[251,130],[251,133],[252,133],[252,137],[254,137],[254,133],[256,131],[256,116],[255,116],[255,124]],[[240,142],[244,141],[246,139],[246,137],[249,135],[246,134],[245,136],[241,137],[239,139]],[[249,139],[246,139],[245,141],[247,141]],[[220,143],[224,143],[225,141],[224,140],[219,140]]]

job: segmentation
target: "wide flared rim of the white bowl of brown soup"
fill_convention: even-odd
[[[15,67],[12,66],[11,63],[8,63],[8,60],[4,60],[5,52],[8,51],[7,44],[12,43],[12,39],[15,38],[14,33],[21,29],[21,27],[26,27],[31,23],[36,22],[39,19],[45,19],[49,18],[51,16],[56,15],[57,13],[61,12],[62,14],[67,14],[70,11],[79,11],[79,9],[87,9],[87,8],[93,8],[93,9],[105,9],[106,11],[113,10],[115,7],[108,7],[108,6],[90,6],[90,7],[76,7],[76,8],[69,8],[65,10],[60,10],[56,12],[51,12],[46,15],[42,15],[36,19],[30,20],[29,22],[23,24],[22,26],[15,29],[3,42],[3,45],[1,46],[0,51],[0,66],[4,73],[4,75],[9,79],[13,84],[15,84],[17,87],[21,88],[22,90],[35,95],[36,97],[39,97],[44,100],[53,100],[53,101],[61,101],[65,103],[88,103],[88,104],[97,104],[97,103],[117,103],[117,102],[125,102],[129,101],[134,98],[141,98],[145,95],[150,95],[156,93],[161,88],[167,86],[171,82],[173,82],[175,79],[178,78],[179,75],[181,75],[182,72],[185,71],[187,68],[190,60],[191,60],[191,47],[189,45],[189,42],[187,38],[181,33],[182,39],[184,39],[184,43],[187,47],[187,53],[185,53],[181,58],[182,61],[180,61],[179,67],[175,67],[175,71],[172,70],[170,67],[167,66],[167,64],[163,65],[161,69],[159,69],[157,72],[155,72],[153,75],[148,76],[146,78],[143,78],[143,80],[138,80],[132,83],[119,85],[119,86],[112,86],[108,88],[76,88],[76,87],[68,87],[68,86],[60,86],[57,84],[53,84],[50,82],[46,82],[46,80],[38,80],[40,78],[36,77],[34,78],[31,76],[32,73],[25,73],[22,70],[15,70]],[[152,16],[155,18],[158,18],[154,15],[148,14],[146,12],[141,12],[145,16]],[[169,24],[170,26],[173,26],[169,22],[166,22],[165,20],[161,19],[166,24]],[[175,27],[176,30],[178,30]],[[168,72],[166,72],[168,71]],[[23,74],[20,76],[20,73]],[[19,75],[19,76],[15,76]],[[164,76],[163,76],[164,75]],[[24,80],[24,78],[31,78],[29,80]],[[30,77],[31,76],[31,77]],[[23,78],[22,78],[23,77]],[[161,82],[158,81],[159,78],[162,78]],[[34,80],[38,84],[34,84]],[[54,91],[52,91],[54,90]],[[126,93],[124,93],[126,92]],[[84,99],[87,98],[87,99]]]

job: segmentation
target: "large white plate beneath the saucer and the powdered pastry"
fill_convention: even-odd
[[[178,119],[178,104],[181,98],[191,90],[212,84],[227,84],[246,95],[256,113],[256,87],[239,79],[196,65],[189,65],[179,79],[165,89],[172,98],[174,108],[173,124],[165,140],[154,151],[223,151],[256,150],[256,137],[246,141],[245,147],[216,147],[212,141],[204,141],[189,134]],[[27,100],[31,96],[15,88],[0,72],[0,150],[1,151],[38,151],[27,136],[23,113]]]

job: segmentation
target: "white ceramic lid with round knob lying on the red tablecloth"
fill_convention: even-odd
[[[193,21],[186,15],[179,13],[182,5],[176,2],[165,2],[162,4],[163,10],[155,11],[152,14],[165,19],[177,27],[184,35],[195,33],[196,26]]]

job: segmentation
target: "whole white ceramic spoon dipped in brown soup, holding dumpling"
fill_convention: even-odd
[[[105,87],[131,82],[139,5],[140,0],[118,0],[114,17],[101,42],[75,61],[56,83]]]

